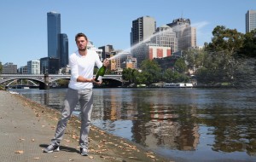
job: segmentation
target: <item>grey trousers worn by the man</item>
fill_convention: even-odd
[[[81,130],[80,130],[80,148],[88,149],[88,134],[90,130],[90,115],[93,107],[92,89],[73,90],[68,88],[67,96],[64,101],[64,108],[61,113],[55,137],[51,140],[51,144],[60,146],[61,139],[67,127],[67,120],[70,119],[74,108],[77,104],[81,107]]]

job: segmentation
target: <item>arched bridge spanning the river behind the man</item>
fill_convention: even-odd
[[[39,83],[39,89],[48,90],[49,83],[60,79],[70,79],[70,74],[0,74],[0,84],[16,79],[27,79]],[[113,84],[122,84],[122,75],[104,75],[103,82],[113,82]]]

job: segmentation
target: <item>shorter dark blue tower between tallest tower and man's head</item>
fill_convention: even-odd
[[[60,67],[67,67],[68,65],[68,38],[67,34],[59,34],[59,59]]]

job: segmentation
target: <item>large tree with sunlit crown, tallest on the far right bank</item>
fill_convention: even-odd
[[[231,83],[237,68],[235,57],[241,51],[244,35],[224,26],[216,26],[212,35],[212,43],[206,44],[207,55],[196,72],[197,80],[207,84]]]

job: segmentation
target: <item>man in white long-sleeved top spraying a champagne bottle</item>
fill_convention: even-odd
[[[78,50],[69,56],[69,66],[71,67],[71,78],[68,84],[67,96],[64,101],[64,108],[61,113],[55,136],[49,146],[44,148],[44,153],[52,153],[60,150],[60,142],[67,127],[67,120],[70,119],[74,108],[79,102],[81,107],[81,130],[80,130],[80,153],[88,156],[88,134],[90,130],[90,115],[93,107],[92,87],[96,82],[93,78],[95,65],[102,67],[102,61],[96,51],[87,49],[88,39],[84,33],[78,33],[75,37]],[[109,61],[104,60],[103,65],[108,67]]]

